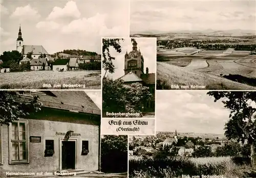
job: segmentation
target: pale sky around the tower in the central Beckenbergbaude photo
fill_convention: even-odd
[[[148,73],[156,73],[156,38],[134,38],[137,42],[137,48],[140,50],[144,58],[144,73],[148,68]],[[110,48],[111,56],[115,57],[113,64],[115,65],[115,72],[113,74],[106,73],[107,76],[118,79],[124,75],[124,55],[127,51],[129,53],[133,50],[133,44],[131,38],[124,38],[120,41],[122,52],[118,53],[114,48]],[[103,70],[103,69],[102,69]],[[105,72],[103,71],[102,74]]]

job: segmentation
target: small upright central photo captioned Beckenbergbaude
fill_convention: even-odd
[[[154,118],[156,38],[102,38],[102,117]]]

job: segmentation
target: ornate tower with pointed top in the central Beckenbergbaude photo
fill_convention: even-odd
[[[144,74],[144,59],[137,48],[136,40],[133,41],[133,50],[124,55],[124,75],[129,72],[135,73],[138,77]]]

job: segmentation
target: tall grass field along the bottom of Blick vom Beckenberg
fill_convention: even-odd
[[[237,165],[230,157],[129,159],[129,177],[201,177],[201,175],[223,175],[226,178],[243,177],[248,165]]]

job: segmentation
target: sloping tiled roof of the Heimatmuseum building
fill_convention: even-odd
[[[83,91],[41,91],[27,92],[16,97],[16,100],[31,101],[33,96],[39,96],[38,101],[44,107],[70,110],[71,112],[89,113],[100,115],[100,109],[92,99]]]

